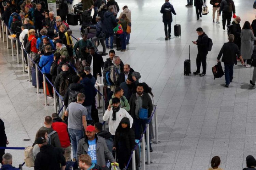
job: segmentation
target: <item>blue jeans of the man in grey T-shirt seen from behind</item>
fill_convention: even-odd
[[[69,136],[70,136],[70,141],[72,145],[73,158],[76,159],[77,146],[78,146],[79,140],[84,137],[84,131],[77,130],[77,129],[70,129],[70,128],[68,128],[68,130],[69,130]]]

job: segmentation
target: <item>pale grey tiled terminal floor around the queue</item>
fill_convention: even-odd
[[[181,24],[181,37],[174,37],[173,15],[172,36],[167,41],[160,14],[164,0],[116,1],[120,7],[128,5],[132,12],[130,44],[126,52],[116,51],[116,55],[140,72],[140,82],[152,87],[157,104],[160,143],[152,144],[153,163],[146,169],[206,170],[216,155],[225,170],[245,168],[246,156],[256,156],[256,90],[249,83],[253,67],[246,68],[241,63],[234,66],[229,88],[225,88],[225,76],[214,80],[212,67],[228,36],[222,23],[212,22],[210,1],[207,0],[209,14],[197,20],[195,7],[185,7],[186,0],[170,0],[177,13],[176,22]],[[251,23],[255,19],[253,2],[234,0],[241,27],[245,21]],[[213,41],[212,51],[207,55],[206,75],[184,76],[183,63],[188,59],[189,45],[191,72],[196,71],[197,47],[191,41],[197,39],[198,27]],[[70,29],[75,37],[80,37],[79,26]],[[104,61],[106,58],[103,56]],[[5,123],[8,146],[31,146],[35,133],[44,125],[44,117],[54,113],[53,99],[48,98],[49,106],[43,105],[43,93],[36,93],[37,89],[28,82],[28,74],[22,72],[22,64],[17,64],[16,55],[12,56],[2,39],[0,66],[0,118]],[[13,155],[14,166],[24,162],[23,150],[5,152]]]

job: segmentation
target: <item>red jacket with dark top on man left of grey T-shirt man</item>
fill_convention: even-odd
[[[68,134],[68,125],[60,117],[53,119],[52,124],[53,130],[58,133],[60,145],[62,148],[67,148],[70,146],[70,139]]]

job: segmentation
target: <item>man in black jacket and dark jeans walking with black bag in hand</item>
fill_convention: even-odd
[[[234,41],[234,35],[230,34],[228,36],[228,43],[224,43],[224,45],[221,48],[221,51],[219,51],[219,55],[217,57],[217,62],[219,62],[219,59],[221,58],[222,54],[222,62],[225,66],[225,80],[226,80],[226,87],[229,87],[229,83],[232,82],[233,79],[233,67],[234,64],[237,63],[237,57],[240,58],[241,63],[243,64],[243,58],[240,54],[240,50],[236,44],[233,43]]]

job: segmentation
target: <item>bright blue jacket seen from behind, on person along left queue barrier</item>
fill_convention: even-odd
[[[44,53],[44,55],[41,56],[39,66],[42,67],[42,73],[47,73],[47,74],[50,73],[52,62],[53,62],[52,52]]]

